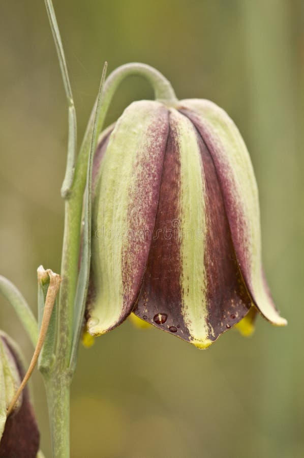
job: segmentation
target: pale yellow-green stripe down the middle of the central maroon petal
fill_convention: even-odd
[[[206,220],[205,185],[198,137],[193,124],[170,110],[170,127],[180,157],[180,254],[182,312],[190,341],[199,348],[211,345],[207,325],[207,284],[204,267]]]

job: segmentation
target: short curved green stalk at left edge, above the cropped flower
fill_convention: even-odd
[[[2,275],[0,275],[0,293],[2,293],[14,307],[28,337],[31,339],[33,346],[36,347],[38,340],[38,325],[36,318],[20,291],[10,280]]]

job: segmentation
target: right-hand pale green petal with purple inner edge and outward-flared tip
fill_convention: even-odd
[[[273,304],[262,271],[258,190],[244,140],[227,113],[208,100],[180,101],[180,111],[198,129],[215,164],[237,262],[252,300],[267,320],[283,326],[287,322]]]

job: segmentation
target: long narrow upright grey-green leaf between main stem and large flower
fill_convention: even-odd
[[[92,168],[93,168],[93,159],[94,153],[97,147],[97,140],[99,131],[102,126],[103,120],[101,120],[100,113],[102,109],[103,102],[103,88],[107,72],[107,63],[105,63],[102,77],[99,86],[99,92],[97,96],[96,109],[94,115],[92,136],[89,145],[89,157],[87,164],[87,175],[86,175],[86,185],[84,191],[84,212],[83,212],[83,232],[82,232],[82,249],[81,249],[81,263],[80,270],[77,282],[77,290],[75,297],[75,310],[74,310],[74,335],[71,349],[71,359],[70,359],[70,369],[75,370],[76,360],[77,360],[77,350],[79,344],[79,338],[81,333],[88,279],[89,279],[89,269],[90,269],[90,245],[91,245],[91,207],[92,207]]]

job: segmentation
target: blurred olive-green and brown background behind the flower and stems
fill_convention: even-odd
[[[208,98],[234,119],[260,191],[263,259],[289,321],[258,319],[199,351],[130,322],[80,349],[72,385],[73,458],[218,458],[304,455],[303,154],[304,2],[301,0],[54,1],[76,102],[79,138],[109,71],[158,68],[179,98]],[[60,185],[67,106],[44,2],[3,0],[0,27],[0,272],[36,313],[36,269],[59,271]],[[124,82],[107,124],[134,99]],[[1,328],[31,345],[0,298]],[[33,377],[41,444],[50,457],[44,387]]]

